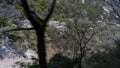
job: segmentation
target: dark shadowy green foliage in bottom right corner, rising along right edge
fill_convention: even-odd
[[[116,48],[106,52],[97,52],[86,61],[88,68],[120,68],[119,39],[115,40]]]

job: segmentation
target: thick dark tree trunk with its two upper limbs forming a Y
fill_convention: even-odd
[[[26,0],[21,0],[21,2],[22,2],[22,7],[24,8],[24,11],[26,13],[26,16],[28,17],[34,30],[36,31],[40,68],[47,68],[44,33],[46,30],[46,24],[48,20],[51,18],[51,15],[54,11],[56,0],[53,1],[51,5],[51,9],[45,19],[41,19],[35,13],[33,13],[33,11],[30,10],[29,5]]]

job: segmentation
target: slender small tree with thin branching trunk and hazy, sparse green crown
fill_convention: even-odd
[[[80,0],[66,0],[65,2],[61,0],[56,5],[59,8],[56,8],[55,16],[53,16],[56,21],[66,24],[66,29],[62,33],[59,30],[60,34],[56,30],[51,32],[57,34],[57,36],[52,34],[54,38],[51,36],[53,43],[59,51],[60,49],[61,52],[63,51],[62,53],[69,51],[70,57],[77,58],[74,64],[79,68],[82,68],[85,55],[92,49],[90,45],[96,45],[92,41],[96,41],[94,36],[100,28],[100,24],[96,22],[101,20],[100,14],[102,14],[101,7],[96,4],[89,2],[83,4]]]

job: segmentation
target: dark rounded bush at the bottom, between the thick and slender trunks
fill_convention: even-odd
[[[73,68],[72,61],[62,54],[55,54],[49,61],[50,68]]]

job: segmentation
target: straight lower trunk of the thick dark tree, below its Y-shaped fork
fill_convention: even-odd
[[[44,29],[45,28],[36,29],[37,49],[38,49],[40,68],[47,68]]]

